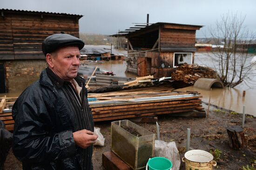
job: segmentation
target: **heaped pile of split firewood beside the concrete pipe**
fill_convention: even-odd
[[[177,67],[171,75],[172,80],[188,84],[194,84],[198,78],[217,78],[216,72],[209,67],[187,64]]]

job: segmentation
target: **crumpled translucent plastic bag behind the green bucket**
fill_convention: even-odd
[[[181,158],[175,142],[167,143],[162,140],[155,140],[155,157],[169,159],[173,164],[172,170],[180,169]]]

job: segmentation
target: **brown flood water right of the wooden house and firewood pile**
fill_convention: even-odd
[[[207,53],[195,53],[194,63],[214,67],[214,62]],[[252,71],[256,73],[256,68]],[[256,81],[256,76],[251,77]],[[202,95],[202,101],[209,102],[210,91],[194,88],[193,86],[178,89],[178,91],[197,91]],[[243,97],[245,91],[245,97]],[[212,89],[210,103],[222,108],[243,113],[243,105],[245,105],[245,113],[256,116],[256,85],[252,82],[246,85],[241,83],[234,88]]]

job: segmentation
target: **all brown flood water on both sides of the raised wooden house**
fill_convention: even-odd
[[[209,59],[207,53],[195,53],[195,63],[200,65],[205,65],[209,67],[214,67],[213,62]],[[98,66],[101,71],[112,71],[115,76],[135,78],[136,75],[126,73],[126,62],[123,60],[110,60],[104,61],[103,63],[93,63],[86,65],[90,68],[95,68]],[[254,70],[256,72],[256,69]],[[256,81],[256,77],[252,77]],[[178,89],[178,91],[197,91],[202,95],[202,101],[209,102],[210,91],[205,91],[193,86]],[[243,98],[243,91],[246,92]],[[7,95],[7,97],[17,97],[21,92],[0,94],[0,97]],[[210,103],[213,105],[218,105],[222,108],[236,111],[238,113],[243,112],[243,105],[246,106],[246,114],[251,114],[256,116],[256,85],[245,85],[244,83],[236,86],[235,88],[225,88],[225,89],[212,89]]]

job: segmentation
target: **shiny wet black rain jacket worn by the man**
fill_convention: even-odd
[[[13,105],[13,154],[23,170],[81,169],[65,100],[44,70]]]

